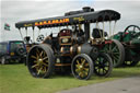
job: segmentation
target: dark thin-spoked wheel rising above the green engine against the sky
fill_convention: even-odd
[[[140,32],[140,27],[137,25],[129,25],[126,27],[125,33],[139,33]]]

